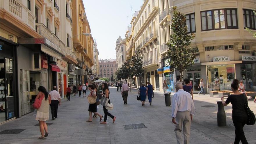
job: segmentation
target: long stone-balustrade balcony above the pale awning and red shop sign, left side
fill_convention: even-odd
[[[54,45],[56,45],[59,49],[57,51],[61,51],[62,53],[66,53],[66,46],[65,44],[42,23],[36,24],[37,29],[36,31],[42,35],[44,38],[47,38],[51,41]]]

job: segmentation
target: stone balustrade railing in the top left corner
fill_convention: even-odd
[[[35,17],[28,8],[24,7],[24,5],[19,0],[6,1],[7,3],[9,2],[10,13],[12,13],[17,19],[30,26],[32,29],[35,29]]]

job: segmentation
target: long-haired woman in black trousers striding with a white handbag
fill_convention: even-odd
[[[101,95],[103,95],[103,97],[106,97],[106,98],[109,99],[109,86],[108,86],[108,84],[107,83],[102,83],[102,89],[103,89],[103,93],[101,93]],[[109,99],[109,103],[110,103],[110,99]],[[101,122],[101,124],[106,124],[107,123],[108,116],[113,119],[113,123],[115,122],[116,117],[111,115],[111,113],[108,112],[108,110],[106,109],[106,106],[103,106],[103,112],[104,112],[104,120],[103,120],[103,122]]]

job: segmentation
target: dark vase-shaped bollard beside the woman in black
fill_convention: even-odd
[[[225,127],[227,126],[227,119],[226,119],[224,106],[221,101],[217,101],[217,104],[218,104],[218,112],[217,112],[218,127]]]

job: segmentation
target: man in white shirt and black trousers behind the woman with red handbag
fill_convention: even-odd
[[[51,95],[51,116],[52,120],[58,117],[58,105],[61,105],[61,95],[57,92],[57,87],[54,86],[53,90],[49,93]]]

